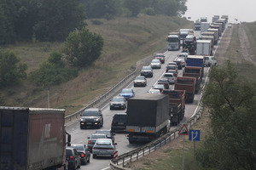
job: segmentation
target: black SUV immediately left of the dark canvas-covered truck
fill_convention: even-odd
[[[126,113],[116,113],[113,115],[113,120],[111,122],[111,131],[115,132],[126,132]]]

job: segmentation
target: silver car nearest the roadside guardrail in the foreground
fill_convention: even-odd
[[[92,148],[92,157],[110,156],[113,158],[113,153],[116,150],[115,145],[116,143],[113,143],[112,139],[97,139]]]

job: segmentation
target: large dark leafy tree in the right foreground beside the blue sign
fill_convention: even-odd
[[[214,68],[203,96],[211,132],[197,159],[205,169],[256,168],[256,88],[237,77],[228,61]]]

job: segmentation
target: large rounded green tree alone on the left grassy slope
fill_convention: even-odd
[[[71,32],[65,42],[64,54],[75,67],[91,65],[102,54],[103,38],[87,28]]]

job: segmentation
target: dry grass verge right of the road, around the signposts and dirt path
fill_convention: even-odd
[[[251,48],[253,50],[254,59],[256,57],[256,33],[253,30],[256,29],[256,22],[247,23],[245,26],[245,30],[247,32],[247,37],[249,38]],[[225,59],[230,59],[231,62],[235,63],[237,66],[237,71],[239,76],[247,80],[248,82],[255,82],[255,71],[256,66],[249,63],[247,60],[243,59],[241,56],[241,45],[238,37],[238,27],[234,25],[232,37],[230,40],[229,48],[226,51],[224,56]],[[203,144],[207,132],[210,130],[209,125],[210,119],[209,114],[205,113],[199,122],[193,126],[193,129],[201,130],[201,141],[196,142],[196,149],[200,148]],[[161,153],[158,153],[157,158],[143,158],[143,165],[132,167],[132,169],[136,170],[176,170],[182,169],[183,162],[183,137],[176,139],[177,144],[175,146],[169,146],[163,149]],[[171,144],[172,145],[172,144]],[[185,137],[185,165],[184,169],[192,170],[193,167],[193,159],[194,159],[194,143],[189,141],[188,137]],[[154,155],[154,153],[152,154]],[[156,156],[153,156],[156,157]],[[135,164],[136,166],[137,164]],[[203,168],[195,163],[197,170],[202,170]]]

